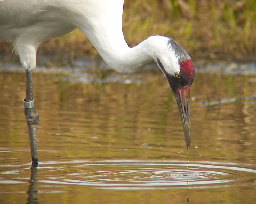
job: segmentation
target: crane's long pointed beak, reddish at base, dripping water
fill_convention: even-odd
[[[174,94],[179,111],[180,111],[180,118],[182,121],[183,132],[185,136],[185,142],[187,145],[187,149],[190,147],[191,142],[191,123],[190,123],[190,87],[181,87],[177,90],[176,94]]]

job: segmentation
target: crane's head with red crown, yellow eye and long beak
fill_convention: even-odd
[[[166,76],[176,98],[187,149],[190,147],[190,87],[195,77],[195,68],[188,53],[172,38],[168,39],[167,47],[156,56],[159,68]]]

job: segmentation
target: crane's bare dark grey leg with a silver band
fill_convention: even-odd
[[[24,102],[24,113],[27,119],[28,135],[31,149],[32,166],[38,165],[37,156],[37,140],[36,140],[36,127],[39,121],[39,115],[36,113],[33,99],[33,88],[32,88],[32,70],[26,71],[26,98]]]

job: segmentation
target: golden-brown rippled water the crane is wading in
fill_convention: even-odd
[[[30,168],[25,74],[7,66],[0,203],[255,203],[255,67],[222,64],[210,73],[197,66],[188,170],[179,110],[154,65],[132,76],[37,69],[40,162]]]

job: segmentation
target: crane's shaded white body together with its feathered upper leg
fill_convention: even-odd
[[[0,1],[0,40],[13,43],[26,70],[35,68],[37,49],[44,41],[76,28],[66,21],[68,16],[61,13],[65,2],[68,1]]]

